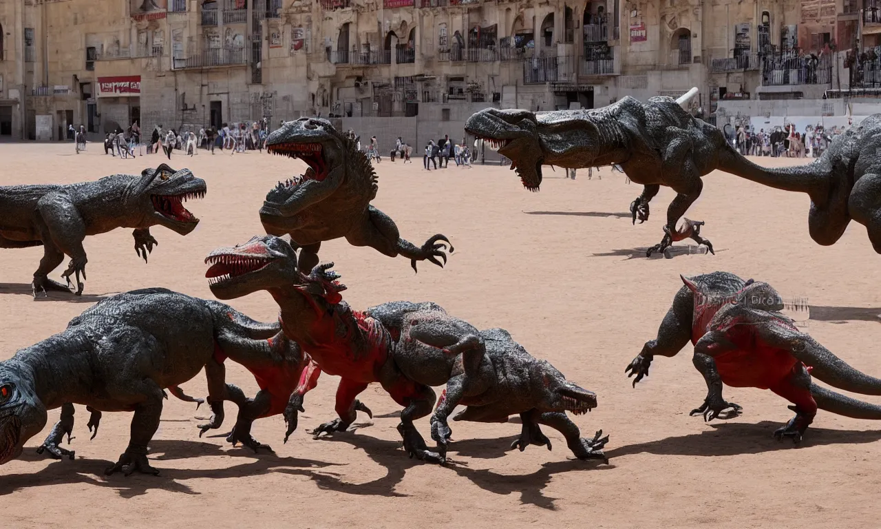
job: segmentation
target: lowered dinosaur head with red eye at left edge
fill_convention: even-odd
[[[18,458],[46,426],[46,408],[27,380],[9,362],[0,363],[0,465]]]

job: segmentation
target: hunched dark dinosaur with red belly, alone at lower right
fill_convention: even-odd
[[[663,318],[656,339],[646,342],[627,366],[643,376],[655,355],[673,356],[689,340],[694,344],[694,367],[707,381],[707,399],[692,410],[705,421],[740,414],[741,406],[722,398],[722,384],[771,390],[792,402],[796,416],[774,431],[782,440],[802,440],[817,409],[857,419],[881,420],[875,406],[813,384],[811,375],[826,384],[863,395],[881,395],[881,379],[850,367],[779,311],[780,294],[767,283],[744,281],[729,272],[682,277],[673,305]],[[720,415],[722,414],[722,415]]]

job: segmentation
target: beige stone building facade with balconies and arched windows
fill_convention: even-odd
[[[875,4],[0,0],[0,138],[322,115],[423,143],[486,106],[593,108],[692,86],[713,120],[737,101],[849,88],[842,54],[877,44]]]

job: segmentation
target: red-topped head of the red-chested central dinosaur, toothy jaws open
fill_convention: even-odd
[[[297,269],[297,252],[274,235],[218,248],[205,257],[205,264],[211,265],[205,272],[211,293],[221,300],[303,283],[303,274]]]

